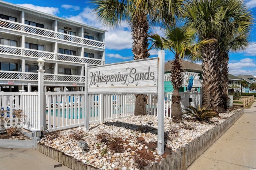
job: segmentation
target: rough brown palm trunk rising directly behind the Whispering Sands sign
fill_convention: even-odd
[[[132,53],[134,60],[147,59],[148,53],[148,19],[146,14],[137,14],[131,21],[132,28]],[[134,115],[146,115],[145,95],[137,95],[135,100]]]

